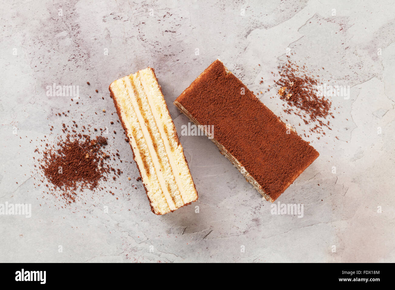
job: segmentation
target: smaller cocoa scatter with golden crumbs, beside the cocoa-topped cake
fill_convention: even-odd
[[[278,95],[288,105],[284,112],[301,117],[306,125],[311,125],[311,133],[325,135],[324,127],[331,130],[327,119],[335,117],[331,112],[332,102],[318,92],[322,84],[320,76],[308,71],[305,65],[291,61],[290,56],[277,69],[280,75],[275,82]]]

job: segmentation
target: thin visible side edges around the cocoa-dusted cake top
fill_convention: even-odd
[[[179,97],[177,97],[177,99],[175,99],[175,101],[173,102],[173,104],[180,110],[181,113],[183,113],[185,116],[188,117],[189,120],[191,120],[196,126],[199,126],[201,129],[203,129],[204,133],[209,136],[209,132],[205,129],[205,126],[202,126],[189,112],[188,110],[185,109],[184,106],[181,105],[181,103],[179,102],[180,99],[182,99],[182,97],[187,94],[190,90],[194,89],[194,84],[196,84],[199,79],[201,79],[201,77],[203,75],[205,75],[205,73],[207,71],[209,71],[209,69],[211,69],[211,67],[216,63],[216,62],[220,62],[224,68],[227,74],[232,74],[233,73],[231,71],[229,71],[229,69],[219,60],[215,60],[212,64],[210,64],[189,86],[188,88],[186,88],[181,95],[179,95]],[[284,122],[282,122],[279,118],[277,118],[278,122],[281,122],[285,125]],[[255,180],[255,178],[253,176],[250,175],[249,172],[246,171],[246,169],[243,167],[243,165],[228,151],[226,150],[226,148],[224,146],[222,146],[222,144],[220,144],[214,136],[210,136],[211,141],[214,142],[214,144],[218,147],[218,149],[220,150],[220,152],[226,157],[228,158],[228,160],[239,170],[239,172],[241,174],[243,174],[243,176],[245,177],[246,181],[248,181],[249,183],[252,184],[252,186],[268,201],[270,202],[274,202],[278,196],[280,196],[282,193],[284,193],[284,191],[293,183],[293,181],[296,180],[296,178],[307,168],[309,167],[315,159],[317,159],[317,157],[320,155],[317,152],[317,155],[314,157],[314,159],[311,160],[311,162],[307,163],[306,166],[304,166],[303,168],[301,168],[300,170],[298,170],[297,172],[295,172],[295,174],[292,176],[292,178],[290,179],[290,181],[286,184],[286,186],[284,186],[284,190],[280,193],[278,193],[275,196],[271,196],[268,195],[267,193],[265,193],[265,191],[263,190],[263,187],[258,183],[258,181]]]

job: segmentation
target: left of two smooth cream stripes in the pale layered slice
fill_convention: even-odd
[[[138,121],[140,123],[140,127],[141,127],[141,130],[143,132],[145,141],[147,143],[147,146],[148,146],[148,149],[149,149],[149,153],[150,153],[151,158],[152,158],[152,162],[154,163],[154,168],[155,168],[155,171],[156,171],[156,176],[158,177],[158,181],[160,183],[160,187],[162,188],[163,194],[166,197],[166,201],[167,201],[167,204],[169,205],[170,210],[176,210],[177,207],[175,206],[175,203],[173,202],[173,199],[171,198],[170,193],[167,190],[166,180],[165,180],[165,178],[163,176],[163,173],[160,171],[161,166],[160,166],[160,162],[159,162],[158,156],[156,155],[156,152],[155,152],[153,141],[151,140],[150,133],[149,133],[149,131],[147,129],[147,125],[144,122],[144,118],[141,115],[141,112],[139,110],[139,106],[137,104],[136,98],[138,96],[136,96],[135,93],[134,93],[134,89],[133,89],[133,86],[131,84],[130,78],[126,77],[123,80],[125,82],[125,87],[126,87],[126,90],[128,91],[128,95],[130,96],[130,100],[132,102],[133,109],[134,109],[135,114],[137,116],[137,119],[138,119]]]

